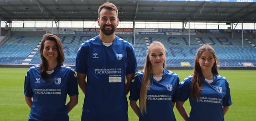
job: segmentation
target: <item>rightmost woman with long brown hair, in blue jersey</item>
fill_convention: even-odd
[[[205,44],[197,51],[194,73],[180,83],[176,108],[185,121],[224,121],[232,104],[229,83],[219,75],[214,49]],[[188,115],[184,102],[189,98]]]

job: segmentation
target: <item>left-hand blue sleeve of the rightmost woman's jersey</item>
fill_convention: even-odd
[[[183,80],[179,84],[178,101],[187,101],[190,95],[189,80]]]

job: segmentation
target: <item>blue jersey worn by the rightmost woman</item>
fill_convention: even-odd
[[[179,101],[189,98],[191,111],[189,121],[224,121],[223,106],[232,104],[229,83],[225,77],[213,74],[213,82],[202,77],[200,99],[191,98],[192,75],[180,83]]]

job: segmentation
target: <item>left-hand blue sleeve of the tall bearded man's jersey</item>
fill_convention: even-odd
[[[87,73],[87,60],[89,55],[89,44],[83,43],[78,49],[75,71]]]

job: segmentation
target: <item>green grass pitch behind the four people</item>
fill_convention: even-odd
[[[0,120],[28,121],[30,109],[24,100],[24,77],[28,69],[0,68]],[[192,73],[192,70],[171,70],[179,75],[180,81]],[[255,121],[256,118],[256,71],[220,70],[227,78],[231,88],[233,104],[224,116],[226,121]],[[129,96],[129,94],[128,94]],[[128,97],[127,96],[127,97]],[[84,95],[79,89],[78,105],[69,113],[69,121],[80,121]],[[189,102],[185,107],[190,111]],[[174,108],[177,121],[183,121]],[[138,121],[129,106],[129,121]]]

